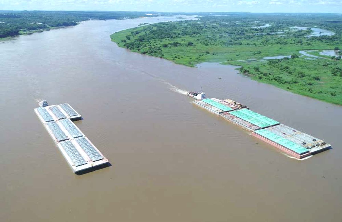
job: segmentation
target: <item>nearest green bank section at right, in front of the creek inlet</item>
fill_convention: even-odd
[[[268,61],[253,61],[249,65],[242,61],[229,61],[222,64],[237,65],[241,74],[251,79],[274,85],[292,93],[342,105],[340,90],[341,77],[326,72],[332,63],[317,59],[315,63],[305,58]],[[310,70],[310,73],[309,73]],[[293,78],[297,72],[297,78]],[[340,91],[339,91],[340,92]]]

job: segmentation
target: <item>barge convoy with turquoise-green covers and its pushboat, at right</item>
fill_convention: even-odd
[[[323,140],[253,112],[241,103],[231,99],[209,99],[205,96],[202,98],[200,95],[203,94],[204,92],[201,92],[201,94],[197,93],[196,96],[192,96],[193,92],[189,92],[187,95],[197,99],[193,101],[195,105],[251,131],[254,137],[293,157],[301,159],[331,147],[331,144],[327,144]]]

